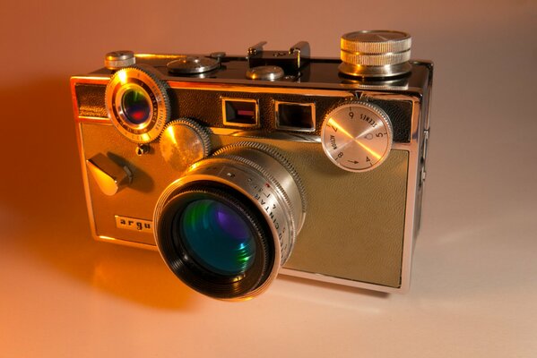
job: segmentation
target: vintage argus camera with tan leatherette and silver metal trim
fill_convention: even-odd
[[[247,55],[117,51],[71,79],[92,234],[158,249],[208,296],[256,296],[278,273],[409,286],[432,64],[403,32]],[[143,263],[141,263],[143,264]]]

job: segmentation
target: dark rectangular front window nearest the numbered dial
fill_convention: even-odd
[[[315,131],[315,104],[276,101],[276,127],[300,132]]]

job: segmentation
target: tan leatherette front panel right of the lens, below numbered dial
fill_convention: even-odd
[[[280,149],[307,191],[306,221],[284,267],[401,286],[409,152],[392,149],[377,169],[349,173],[333,166],[320,144],[260,141]]]

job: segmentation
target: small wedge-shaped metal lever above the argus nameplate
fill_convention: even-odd
[[[116,194],[133,180],[127,166],[119,166],[101,153],[86,160],[86,165],[101,192],[108,196]]]

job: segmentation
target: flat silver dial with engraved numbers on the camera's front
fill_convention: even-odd
[[[325,116],[321,142],[326,156],[349,172],[376,168],[392,148],[392,124],[385,112],[370,103],[352,101]]]

